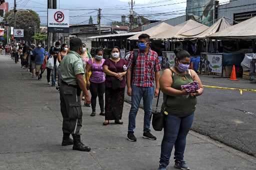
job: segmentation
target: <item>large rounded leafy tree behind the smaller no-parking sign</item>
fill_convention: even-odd
[[[28,10],[28,11],[26,11]],[[4,22],[9,22],[10,26],[14,26],[14,11],[10,10],[9,12],[5,13]],[[16,11],[16,27],[15,29],[23,29],[24,30],[24,37],[21,39],[26,40],[28,42],[32,41],[32,36],[34,35],[34,26],[36,32],[40,31],[40,18],[38,14],[31,10],[31,9],[22,9]]]

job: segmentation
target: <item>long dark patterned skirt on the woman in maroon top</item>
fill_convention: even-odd
[[[125,88],[105,86],[105,120],[121,120]]]

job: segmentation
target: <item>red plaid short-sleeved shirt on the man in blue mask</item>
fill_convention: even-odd
[[[127,68],[133,67],[132,60],[133,51],[129,56]],[[160,69],[159,58],[155,51],[149,48],[148,53],[145,55],[143,51],[138,50],[138,57],[133,69],[131,84],[140,87],[153,87],[154,73],[160,71]]]

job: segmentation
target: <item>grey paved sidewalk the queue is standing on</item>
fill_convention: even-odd
[[[137,142],[126,139],[130,105],[125,103],[123,125],[104,117],[90,117],[91,109],[82,107],[82,142],[91,151],[73,151],[61,146],[59,94],[0,55],[0,170],[157,170],[163,132],[152,134],[156,141],[142,138],[143,111],[136,118]],[[191,170],[255,170],[256,158],[243,154],[192,131],[187,137],[184,159]],[[173,157],[172,157],[173,158]],[[173,168],[170,160],[168,170]]]

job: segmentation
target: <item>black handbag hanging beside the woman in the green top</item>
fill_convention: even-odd
[[[160,89],[159,89],[159,93],[158,93],[158,97],[157,97],[157,102],[156,102],[156,108],[155,108],[155,112],[152,112],[152,127],[155,131],[162,131],[162,128],[164,126],[165,123],[165,115],[164,115],[164,110],[161,110],[160,112],[157,112],[157,106],[158,106],[158,101],[159,101],[159,96],[160,96]],[[167,102],[167,98],[165,100],[165,103]]]

